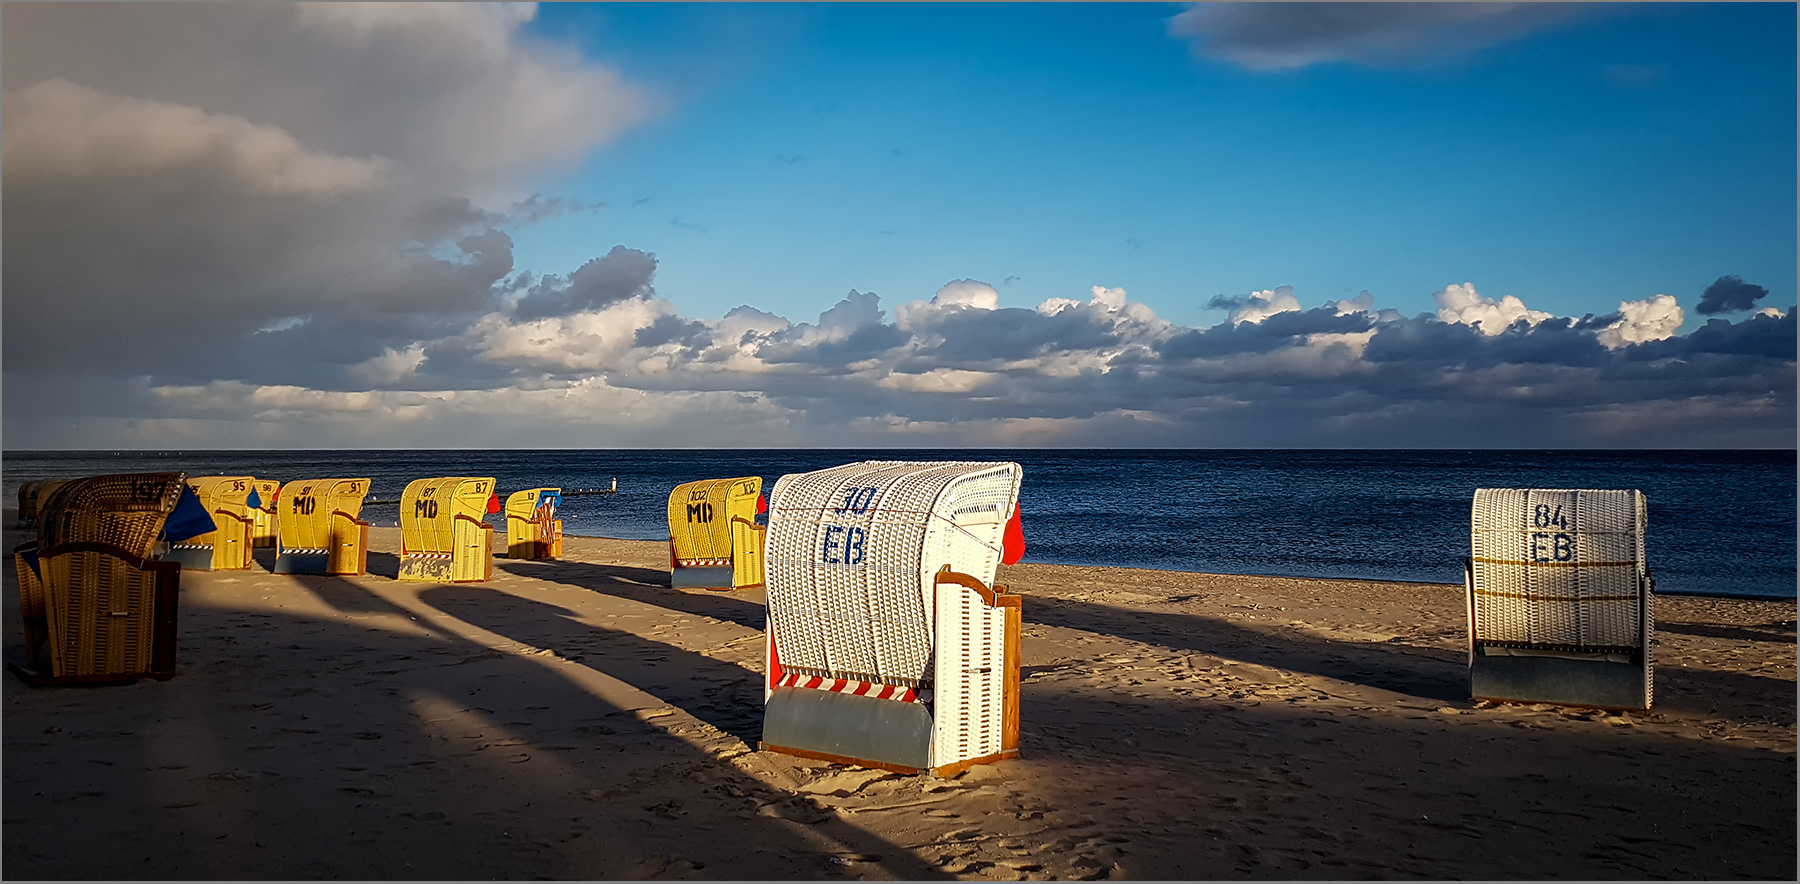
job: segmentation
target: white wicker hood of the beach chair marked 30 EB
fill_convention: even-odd
[[[770,493],[763,564],[783,668],[925,684],[938,628],[932,574],[950,565],[994,580],[1019,479],[1012,463],[961,461],[783,475]]]

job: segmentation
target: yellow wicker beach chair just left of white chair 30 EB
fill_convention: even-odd
[[[707,479],[670,492],[670,585],[763,585],[763,481]]]

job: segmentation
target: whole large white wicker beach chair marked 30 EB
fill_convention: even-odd
[[[1015,463],[864,461],[769,499],[763,749],[952,776],[1019,754]]]

